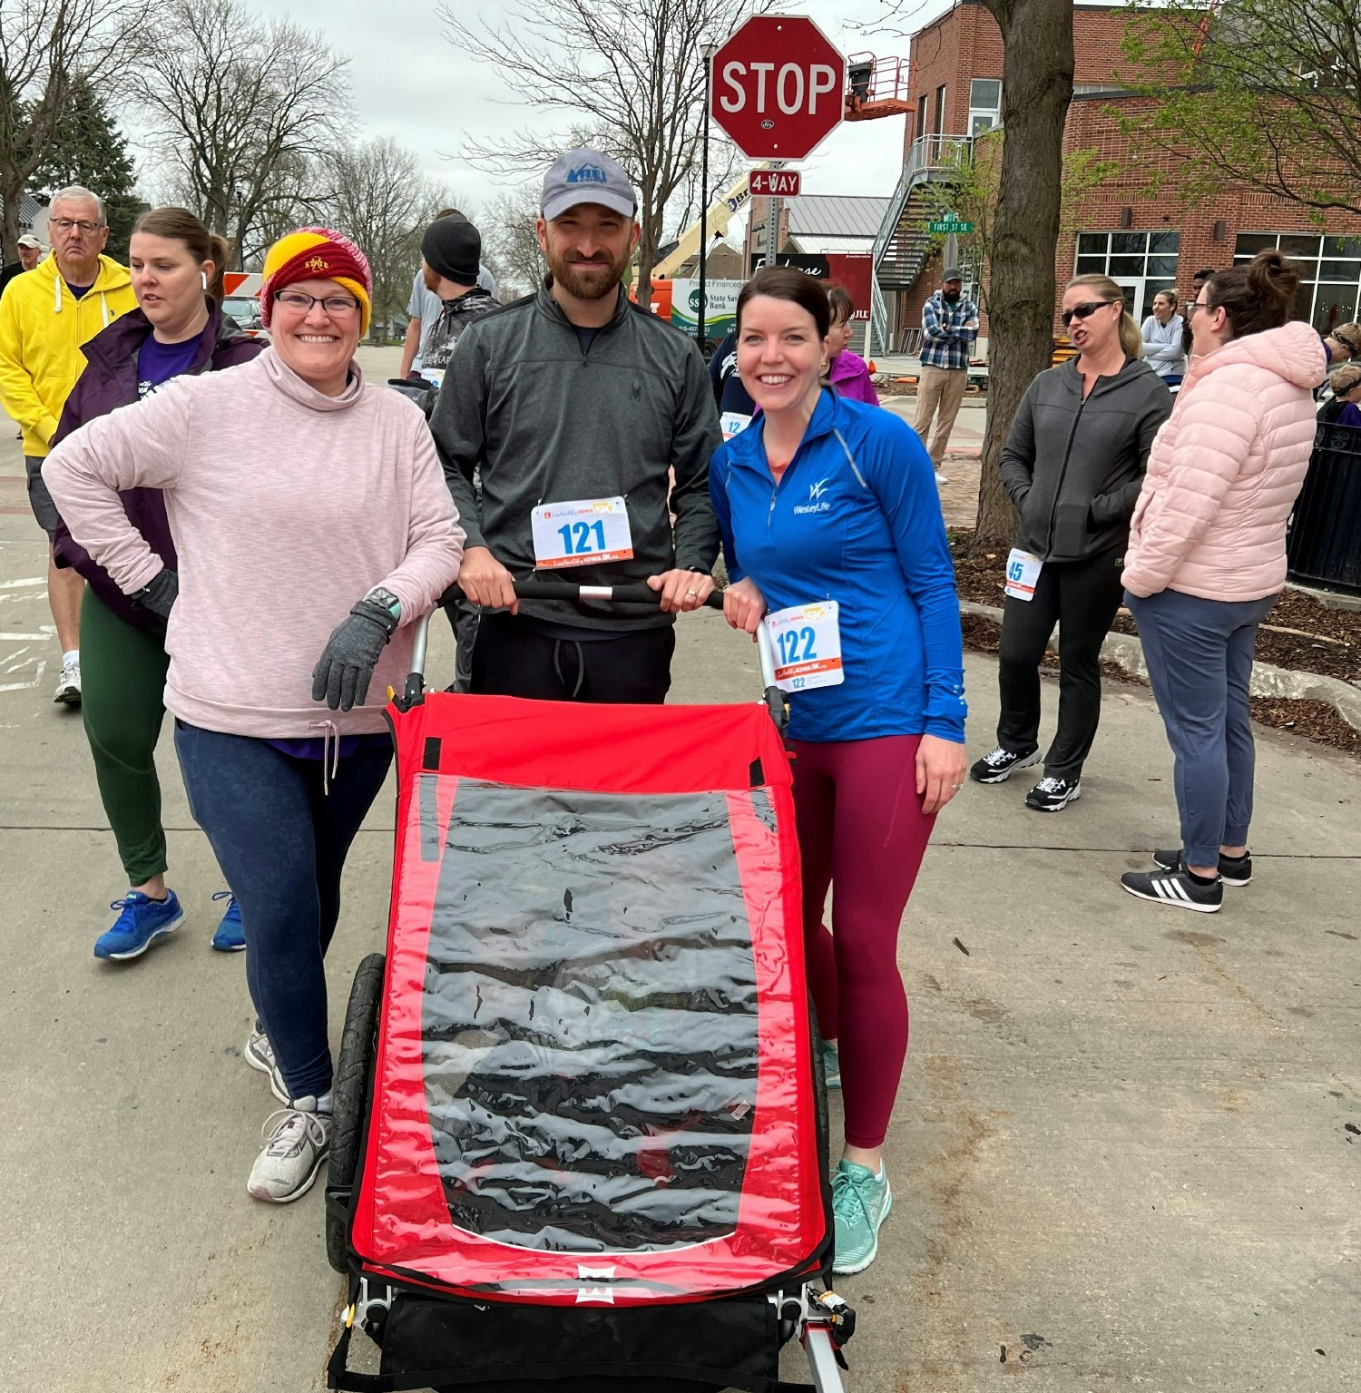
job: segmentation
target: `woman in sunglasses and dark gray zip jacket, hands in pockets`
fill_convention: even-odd
[[[1130,514],[1153,436],[1172,414],[1172,393],[1144,362],[1140,327],[1113,280],[1068,281],[1059,318],[1077,357],[1029,384],[1002,450],[1020,546],[1007,563],[997,745],[970,770],[993,784],[1039,763],[1039,664],[1057,624],[1059,729],[1045,777],[1025,795],[1039,812],[1061,812],[1082,793]]]

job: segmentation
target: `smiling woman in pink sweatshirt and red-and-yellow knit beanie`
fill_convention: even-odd
[[[91,421],[43,465],[71,535],[167,620],[189,808],[241,905],[245,1056],[284,1103],[248,1183],[274,1204],[330,1145],[322,960],[391,762],[383,692],[462,554],[425,418],[352,361],[371,286],[347,238],[291,233],[265,259],[270,350]],[[164,490],[178,573],[128,521],[118,490],[135,488]]]

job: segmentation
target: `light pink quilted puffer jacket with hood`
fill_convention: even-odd
[[[1191,359],[1130,522],[1131,595],[1257,600],[1282,589],[1323,371],[1322,341],[1300,322]]]

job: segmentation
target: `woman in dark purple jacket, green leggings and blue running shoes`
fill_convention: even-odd
[[[263,343],[223,323],[227,254],[227,244],[182,208],[153,208],[138,219],[128,258],[138,308],[85,344],[86,368],[67,398],[53,444],[86,421],[150,396],[171,378],[231,368],[263,351]],[[123,506],[152,550],[176,570],[160,490],[131,489]],[[166,625],[130,600],[64,524],[56,559],[89,582],[81,606],[85,734],[130,886],[111,905],[118,918],[95,940],[95,957],[121,961],[139,957],[184,921],[180,900],[166,886],[155,761],[166,715]],[[212,943],[223,953],[245,947],[234,898]]]

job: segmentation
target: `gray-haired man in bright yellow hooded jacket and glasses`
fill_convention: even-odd
[[[104,256],[104,205],[88,188],[54,195],[47,219],[52,255],[17,276],[0,298],[0,405],[24,430],[28,500],[47,534],[47,605],[61,642],[56,701],[81,702],[81,598],[85,582],[57,570],[52,542],[57,508],[42,479],[42,462],[61,408],[85,371],[81,344],[118,315],[137,308],[127,267]]]

